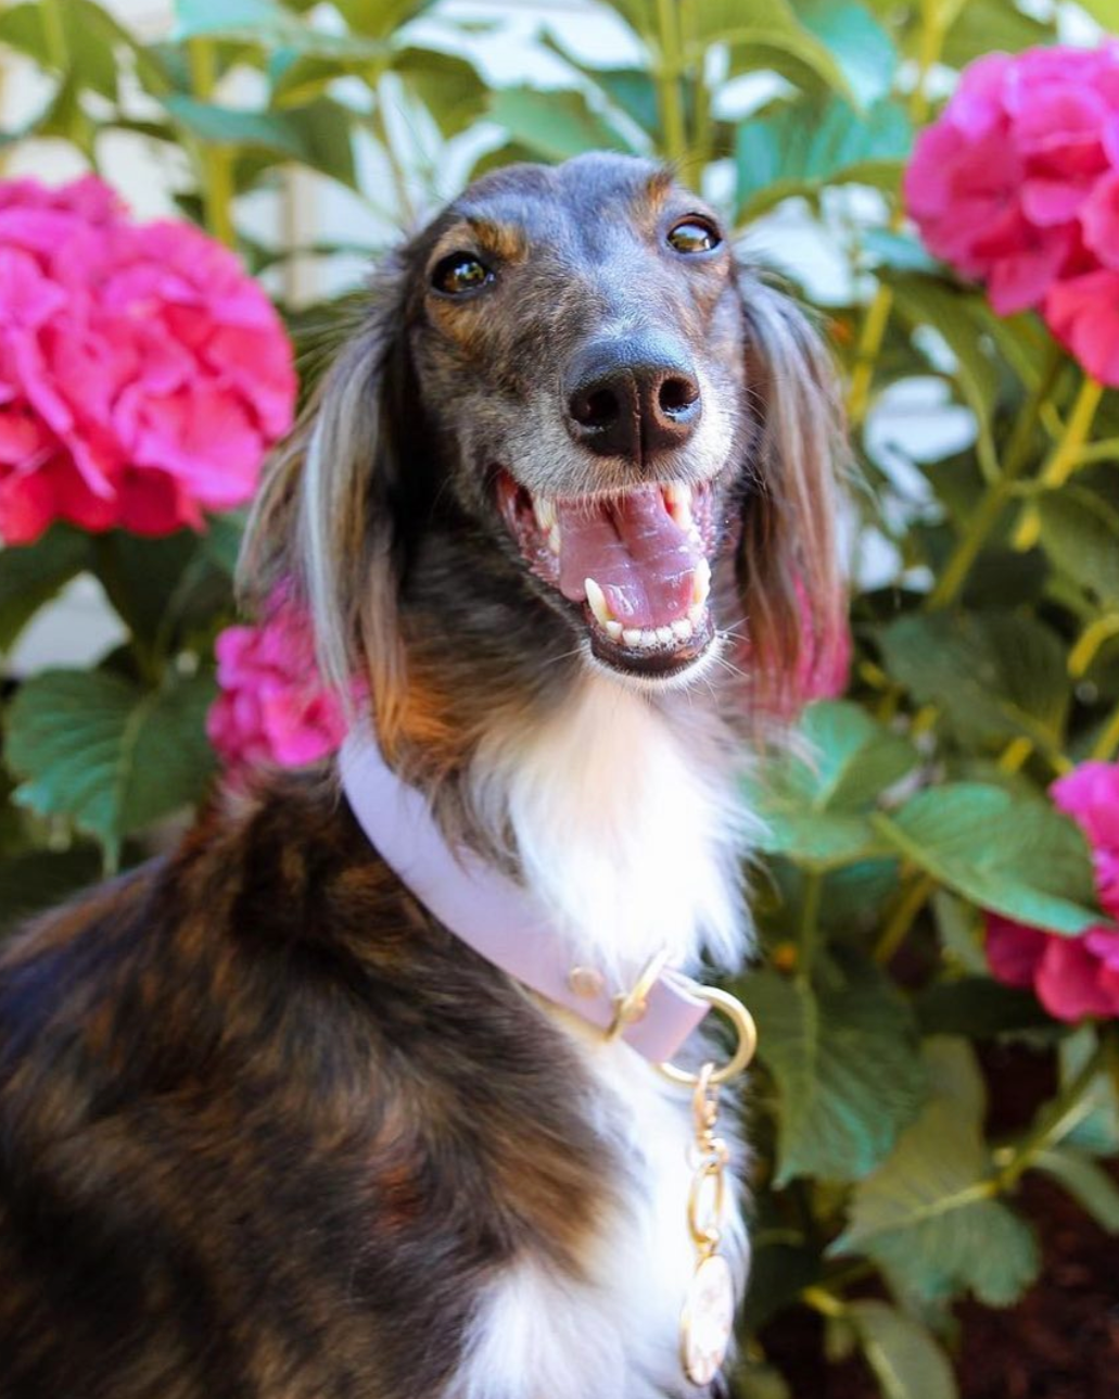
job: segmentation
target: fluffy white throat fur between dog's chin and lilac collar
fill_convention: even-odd
[[[573,956],[618,979],[666,946],[683,967],[746,953],[741,761],[705,705],[670,698],[583,674],[547,716],[488,729],[466,774]]]

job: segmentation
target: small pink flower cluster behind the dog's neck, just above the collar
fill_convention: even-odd
[[[319,676],[306,618],[290,602],[280,599],[257,627],[227,627],[215,652],[221,694],[206,727],[235,775],[315,762],[345,737],[343,706]]]

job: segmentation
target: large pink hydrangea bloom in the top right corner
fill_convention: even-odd
[[[1118,144],[1119,45],[989,55],[918,139],[906,204],[929,249],[1010,315],[1098,266],[1084,221],[1101,218]]]

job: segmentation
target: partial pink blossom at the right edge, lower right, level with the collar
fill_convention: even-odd
[[[1119,919],[1119,764],[1085,762],[1053,783],[1053,802],[1092,848],[1101,908]],[[1008,986],[1032,986],[1057,1020],[1119,1016],[1119,928],[1060,937],[988,915],[988,961]]]

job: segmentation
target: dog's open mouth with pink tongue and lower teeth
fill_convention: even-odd
[[[498,504],[536,576],[582,603],[600,660],[673,674],[711,645],[709,485],[550,498],[532,495],[502,470]]]

